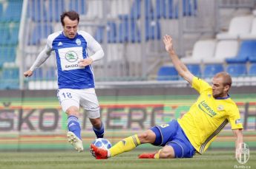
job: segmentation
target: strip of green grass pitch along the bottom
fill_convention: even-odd
[[[192,159],[137,159],[142,150],[131,151],[107,160],[93,159],[89,151],[60,152],[0,152],[0,168],[2,169],[65,169],[65,168],[243,168],[233,151],[208,151],[196,155]],[[249,161],[245,168],[256,168],[256,151],[250,151]]]

